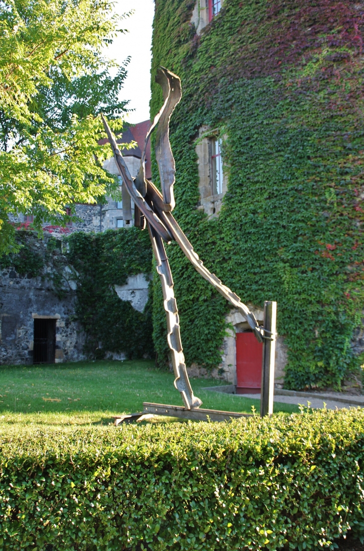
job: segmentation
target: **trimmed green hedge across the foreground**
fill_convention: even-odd
[[[0,439],[3,551],[332,549],[364,534],[364,409],[120,430],[2,423]]]

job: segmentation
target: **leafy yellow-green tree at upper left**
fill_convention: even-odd
[[[122,17],[111,0],[0,1],[0,253],[14,251],[11,215],[67,222],[66,206],[95,203],[117,183],[99,114],[122,127],[126,64],[103,51]],[[115,77],[109,69],[117,66]]]

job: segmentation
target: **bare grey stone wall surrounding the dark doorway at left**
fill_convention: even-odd
[[[31,246],[45,256],[48,239],[40,241],[35,238]],[[57,250],[52,252],[53,255],[62,257],[61,251]],[[72,321],[76,288],[74,273],[67,264],[62,266],[62,262],[58,263],[57,272],[62,277],[62,298],[58,298],[53,285],[55,269],[52,262],[46,263],[42,275],[37,277],[20,274],[13,267],[1,269],[0,364],[32,363],[36,318],[56,319],[56,363],[85,359],[84,332],[78,322]]]

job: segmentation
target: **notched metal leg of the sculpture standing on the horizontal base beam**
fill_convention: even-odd
[[[194,396],[191,383],[188,379],[186,364],[184,363],[183,348],[180,333],[180,318],[178,316],[177,302],[173,292],[173,279],[170,264],[166,255],[163,241],[154,230],[153,226],[147,223],[151,245],[157,262],[157,272],[159,274],[164,309],[167,315],[167,341],[172,353],[172,365],[175,372],[175,387],[181,393],[184,407],[186,409],[198,408],[202,401]]]

